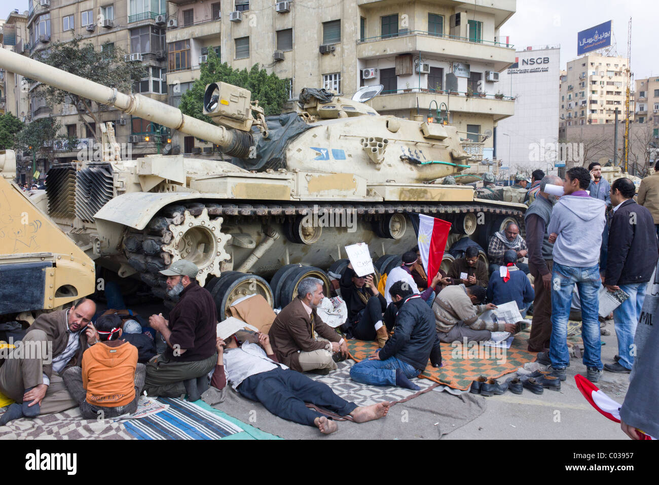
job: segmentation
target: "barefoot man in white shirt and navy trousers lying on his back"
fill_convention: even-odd
[[[221,325],[219,329],[221,331]],[[268,335],[257,333],[258,344],[247,339],[242,342],[239,335],[246,338],[247,334],[237,332],[226,340],[217,338],[217,366],[211,379],[211,385],[217,389],[223,389],[229,381],[233,389],[247,399],[262,403],[275,416],[316,426],[323,434],[335,432],[338,425],[304,403],[315,404],[339,416],[351,416],[357,423],[387,415],[387,401],[357,406],[335,395],[328,385],[279,364]]]

